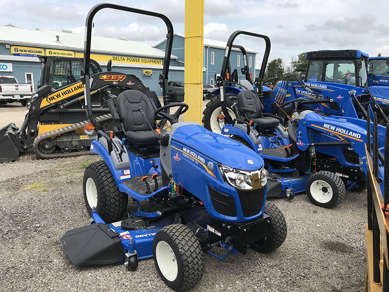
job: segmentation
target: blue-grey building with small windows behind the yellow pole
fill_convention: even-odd
[[[185,37],[180,34],[175,34],[173,38],[172,54],[178,57],[178,63],[184,63],[185,60]],[[203,83],[214,84],[216,77],[220,74],[220,70],[223,64],[224,51],[226,49],[227,42],[204,38],[204,65],[203,65]],[[164,50],[166,46],[166,40],[155,45],[155,48]],[[246,48],[248,55],[248,67],[250,73],[255,76],[255,62],[258,52]],[[240,69],[244,66],[243,55],[238,49],[232,49],[230,56],[231,71],[237,69],[238,78],[245,78]],[[169,80],[176,80],[173,77],[169,77]],[[181,79],[178,79],[181,80]]]

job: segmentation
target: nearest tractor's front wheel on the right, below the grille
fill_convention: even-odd
[[[279,248],[286,238],[287,226],[283,213],[271,202],[266,202],[264,213],[271,218],[271,235],[266,237],[265,241],[256,242],[257,246],[251,247],[260,253],[269,253]]]

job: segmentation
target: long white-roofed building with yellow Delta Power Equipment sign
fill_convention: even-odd
[[[0,26],[0,75],[15,76],[19,83],[38,86],[41,63],[38,55],[82,57],[84,35],[71,30],[24,29],[12,24]],[[124,37],[92,37],[92,55],[106,70],[112,59],[112,71],[138,76],[150,90],[161,93],[158,85],[164,52]],[[172,55],[169,79],[184,80],[184,64]],[[146,72],[147,71],[147,72]]]

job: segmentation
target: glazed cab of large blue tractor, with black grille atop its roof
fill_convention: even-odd
[[[368,85],[369,55],[359,50],[308,52],[305,82],[333,82],[351,86]]]

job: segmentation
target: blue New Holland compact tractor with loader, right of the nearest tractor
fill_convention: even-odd
[[[239,35],[264,39],[266,52],[270,51],[266,36],[244,31],[231,34],[217,79],[225,124],[221,133],[250,147],[265,161],[269,171],[267,196],[293,198],[295,193],[306,191],[314,204],[328,208],[339,203],[347,190],[363,188],[367,177],[365,144],[371,140],[366,131],[368,126],[372,128],[372,123],[366,122],[370,121],[370,111],[366,112],[366,120],[326,116],[309,109],[299,111],[305,99],[296,98],[291,102],[291,114],[285,123],[282,116],[263,112],[261,95],[241,90],[230,98],[235,113],[234,117],[230,116],[225,72],[230,48]],[[377,127],[379,177],[383,186],[385,128]]]

